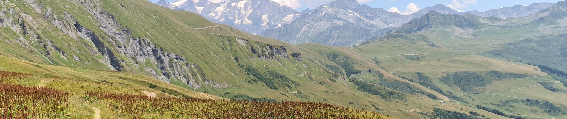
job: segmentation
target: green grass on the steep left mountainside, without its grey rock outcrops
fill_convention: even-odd
[[[156,6],[144,0],[86,2],[90,3],[92,6],[82,5],[77,2],[50,0],[34,2],[41,6],[32,6],[25,1],[10,0],[10,3],[10,5],[1,6],[2,9],[15,8],[17,10],[10,13],[11,16],[8,15],[6,17],[12,17],[13,19],[18,19],[19,15],[26,17],[25,21],[27,27],[32,28],[30,31],[39,34],[41,39],[32,41],[30,38],[33,34],[22,34],[22,29],[4,28],[0,31],[0,37],[6,40],[6,42],[0,42],[0,45],[5,47],[4,49],[6,50],[1,50],[0,55],[6,57],[32,61],[33,63],[39,63],[41,65],[54,64],[65,66],[66,68],[77,67],[71,69],[99,72],[101,74],[105,74],[105,72],[91,69],[112,70],[101,61],[104,60],[104,58],[100,53],[97,52],[97,55],[89,54],[89,52],[96,52],[91,50],[94,49],[93,47],[95,46],[92,45],[90,41],[78,36],[68,35],[53,25],[50,19],[46,19],[43,13],[49,12],[49,15],[61,19],[63,24],[71,27],[71,29],[74,29],[72,27],[74,20],[76,20],[81,23],[83,27],[93,30],[93,32],[102,39],[105,45],[109,46],[109,49],[115,52],[119,59],[125,61],[123,65],[127,72],[153,76],[151,72],[147,72],[143,69],[143,67],[157,69],[153,63],[148,61],[140,62],[140,64],[138,64],[140,67],[137,67],[135,65],[138,62],[137,60],[126,58],[126,56],[116,53],[118,49],[113,47],[113,43],[115,42],[111,42],[111,34],[106,32],[105,29],[101,29],[99,26],[100,21],[96,20],[96,17],[88,12],[88,8],[93,7],[101,8],[101,10],[116,16],[116,22],[120,24],[122,28],[128,28],[132,32],[132,37],[149,39],[151,43],[155,43],[156,46],[163,48],[167,53],[181,55],[190,63],[199,65],[201,68],[200,72],[205,74],[209,80],[217,83],[227,83],[229,85],[226,89],[214,87],[214,84],[194,88],[185,85],[175,78],[171,80],[172,84],[184,87],[185,89],[183,90],[185,91],[189,89],[209,92],[215,95],[232,92],[234,94],[246,94],[253,98],[325,102],[347,107],[363,108],[370,111],[375,110],[372,105],[376,105],[379,109],[386,111],[403,111],[435,103],[433,101],[424,101],[420,99],[420,97],[413,95],[407,95],[409,103],[399,100],[388,102],[379,99],[376,95],[358,90],[357,87],[349,83],[348,80],[338,82],[329,81],[329,77],[335,73],[325,68],[322,64],[337,64],[324,59],[313,51],[274,39],[243,33],[226,25],[211,23],[196,14]],[[69,15],[72,16],[72,19],[67,19]],[[14,20],[12,23],[17,24],[18,21]],[[215,25],[217,27],[211,27]],[[198,30],[196,28],[204,29]],[[301,53],[304,60],[295,61],[295,58],[286,59],[280,56],[277,57],[281,60],[257,59],[256,55],[251,52],[251,48],[247,45],[241,45],[237,42],[237,38],[248,39],[247,45],[266,46],[268,43],[277,47],[282,45],[287,48],[289,54],[293,52]],[[66,56],[57,53],[57,51],[53,49],[44,49],[43,45],[37,43],[40,41],[45,42],[45,39],[49,39],[49,41],[53,42],[53,45],[60,47],[60,49],[65,52]],[[29,49],[18,43],[21,41],[29,42],[24,43],[24,45],[29,45]],[[52,55],[43,55],[46,54],[47,51],[52,52]],[[74,60],[73,56],[78,56],[81,60]],[[235,61],[235,57],[239,58],[238,63]],[[260,70],[276,70],[276,72],[284,74],[300,85],[297,87],[272,90],[262,82],[248,83],[246,80],[253,77],[247,74],[244,69],[240,68],[238,64]],[[9,66],[10,65],[7,65],[6,67]],[[6,70],[8,70],[8,68],[6,68]],[[10,68],[10,70],[22,71],[23,69]],[[43,70],[37,70],[33,73],[41,75],[50,74],[42,74],[42,72]],[[65,70],[65,72],[67,72],[67,70]],[[101,74],[95,74],[95,76]],[[59,74],[53,75],[57,76]],[[90,74],[81,74],[81,76],[90,76]],[[390,74],[388,74],[388,76],[395,77]],[[103,77],[105,77],[105,75],[93,78],[105,79]],[[139,77],[142,76],[128,79],[138,79]],[[338,76],[338,78],[340,77],[342,76]],[[107,81],[123,82],[110,78]],[[156,85],[158,83],[155,82],[155,80],[145,82],[138,80],[133,81],[141,85],[149,85],[149,83],[145,82],[156,83]],[[204,81],[201,80],[197,82],[203,83]],[[178,89],[178,87],[176,88]],[[156,92],[159,91],[161,90]],[[192,91],[180,92],[189,93]],[[137,93],[139,94],[140,92]],[[392,113],[400,115],[400,117],[403,118],[416,118],[419,116],[419,114],[416,113]]]

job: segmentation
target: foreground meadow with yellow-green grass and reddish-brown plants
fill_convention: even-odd
[[[392,118],[326,103],[232,101],[137,74],[0,59],[2,118]]]

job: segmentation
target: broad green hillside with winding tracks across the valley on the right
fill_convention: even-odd
[[[377,41],[344,49],[468,107],[507,117],[566,117],[560,100],[567,88],[561,75],[565,5],[511,19],[430,12]]]

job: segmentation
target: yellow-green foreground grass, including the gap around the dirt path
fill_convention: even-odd
[[[115,117],[115,112],[108,108],[109,102],[89,103],[87,100],[84,100],[82,96],[86,91],[131,93],[137,95],[144,95],[141,91],[149,91],[160,97],[186,95],[200,99],[223,99],[138,74],[37,64],[6,56],[0,56],[0,60],[2,61],[0,70],[34,74],[30,78],[15,80],[15,84],[50,87],[56,90],[69,91],[71,95],[69,101],[71,103],[65,113],[69,114],[70,118],[93,117],[93,107],[100,109],[100,112],[103,113],[101,118],[120,118]],[[122,80],[121,78],[127,80]],[[149,84],[156,85],[156,87],[150,88]]]

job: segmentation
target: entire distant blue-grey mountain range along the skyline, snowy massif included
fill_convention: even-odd
[[[327,5],[321,5],[314,10],[304,10],[301,13],[270,0],[232,0],[221,3],[210,3],[208,1],[174,1],[170,3],[162,0],[156,2],[156,4],[176,10],[194,12],[217,23],[231,25],[248,33],[260,34],[260,36],[293,44],[316,42],[332,46],[359,45],[362,42],[379,37],[391,28],[400,27],[411,19],[421,17],[429,11],[437,11],[442,14],[495,16],[506,19],[535,14],[535,12],[553,5],[553,3],[546,2],[533,3],[528,6],[516,5],[485,12],[459,12],[445,5],[435,5],[404,16],[388,12],[382,8],[359,5],[356,0],[337,0]],[[251,7],[251,5],[254,6]]]

